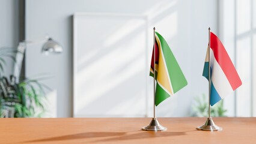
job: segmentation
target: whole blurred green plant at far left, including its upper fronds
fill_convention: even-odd
[[[0,116],[3,118],[40,117],[45,110],[44,89],[49,89],[40,79],[23,79],[11,75],[2,76],[6,61],[4,57],[15,62],[15,49],[0,49]]]

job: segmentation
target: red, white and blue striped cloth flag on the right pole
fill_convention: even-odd
[[[210,32],[210,50],[208,46],[206,61],[204,63],[203,76],[206,77],[206,79],[209,80],[209,52],[212,81],[210,88],[210,104],[213,106],[241,86],[242,81],[225,47],[213,32]]]

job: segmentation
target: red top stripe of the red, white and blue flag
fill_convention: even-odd
[[[230,82],[231,87],[233,88],[233,90],[235,90],[240,85],[242,85],[242,81],[237,74],[236,68],[234,67],[230,56],[228,56],[228,53],[219,38],[211,32],[210,39],[210,47],[213,50],[215,59],[224,71],[225,76]]]

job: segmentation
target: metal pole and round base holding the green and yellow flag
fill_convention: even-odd
[[[166,131],[167,128],[163,127],[162,125],[159,124],[156,118],[156,28],[153,28],[154,30],[154,46],[153,46],[153,53],[154,53],[154,116],[150,122],[149,125],[146,127],[142,127],[141,130],[144,131]]]

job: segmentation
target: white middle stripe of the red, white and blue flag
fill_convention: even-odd
[[[225,76],[224,71],[221,66],[216,61],[212,49],[210,49],[211,54],[211,67],[212,67],[212,83],[215,86],[216,91],[218,92],[221,98],[230,95],[233,92],[233,89],[228,82],[227,77]]]

